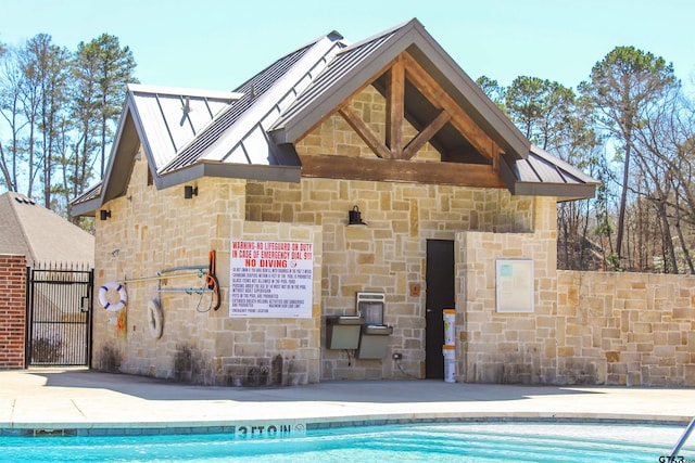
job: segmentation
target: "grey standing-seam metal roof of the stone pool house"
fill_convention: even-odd
[[[104,178],[73,202],[73,213],[93,215],[125,194],[140,143],[157,189],[204,176],[299,182],[302,163],[294,143],[365,83],[384,87],[379,72],[403,53],[502,149],[500,175],[513,194],[561,200],[594,195],[595,180],[531,145],[412,20],[357,43],[332,31],[280,57],[232,92],[130,85]],[[420,130],[437,108],[413,86],[405,91],[406,119]],[[451,128],[430,142],[442,160],[481,163],[456,154],[468,142]]]

